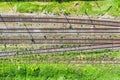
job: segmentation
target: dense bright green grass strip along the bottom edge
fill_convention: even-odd
[[[99,67],[100,66],[100,67]],[[1,80],[119,80],[119,65],[0,64]]]

